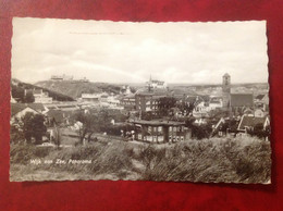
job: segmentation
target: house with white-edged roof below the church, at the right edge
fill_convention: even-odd
[[[238,132],[247,133],[247,129],[254,129],[256,125],[261,124],[263,129],[266,129],[270,125],[269,116],[258,117],[251,115],[243,115],[239,124]]]

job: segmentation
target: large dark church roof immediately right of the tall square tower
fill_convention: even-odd
[[[254,99],[253,94],[231,94],[230,95],[231,107],[253,107]]]

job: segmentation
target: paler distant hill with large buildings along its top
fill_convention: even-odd
[[[66,95],[71,98],[79,98],[83,92],[94,94],[94,92],[113,92],[119,94],[122,86],[110,85],[106,83],[91,83],[91,82],[79,82],[79,80],[44,80],[36,83],[36,86],[48,88],[52,91]]]

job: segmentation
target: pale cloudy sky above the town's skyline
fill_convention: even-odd
[[[268,82],[266,22],[133,23],[13,18],[12,77],[93,82]]]

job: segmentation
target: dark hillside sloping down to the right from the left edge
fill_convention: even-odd
[[[23,83],[19,79],[12,78],[11,79],[11,92],[13,98],[22,98],[24,95],[25,89],[42,89],[44,91],[48,92],[49,97],[52,97],[53,100],[58,101],[74,101],[74,98],[66,96],[62,92],[57,92],[54,90],[48,89],[49,87],[40,87],[27,83]]]

